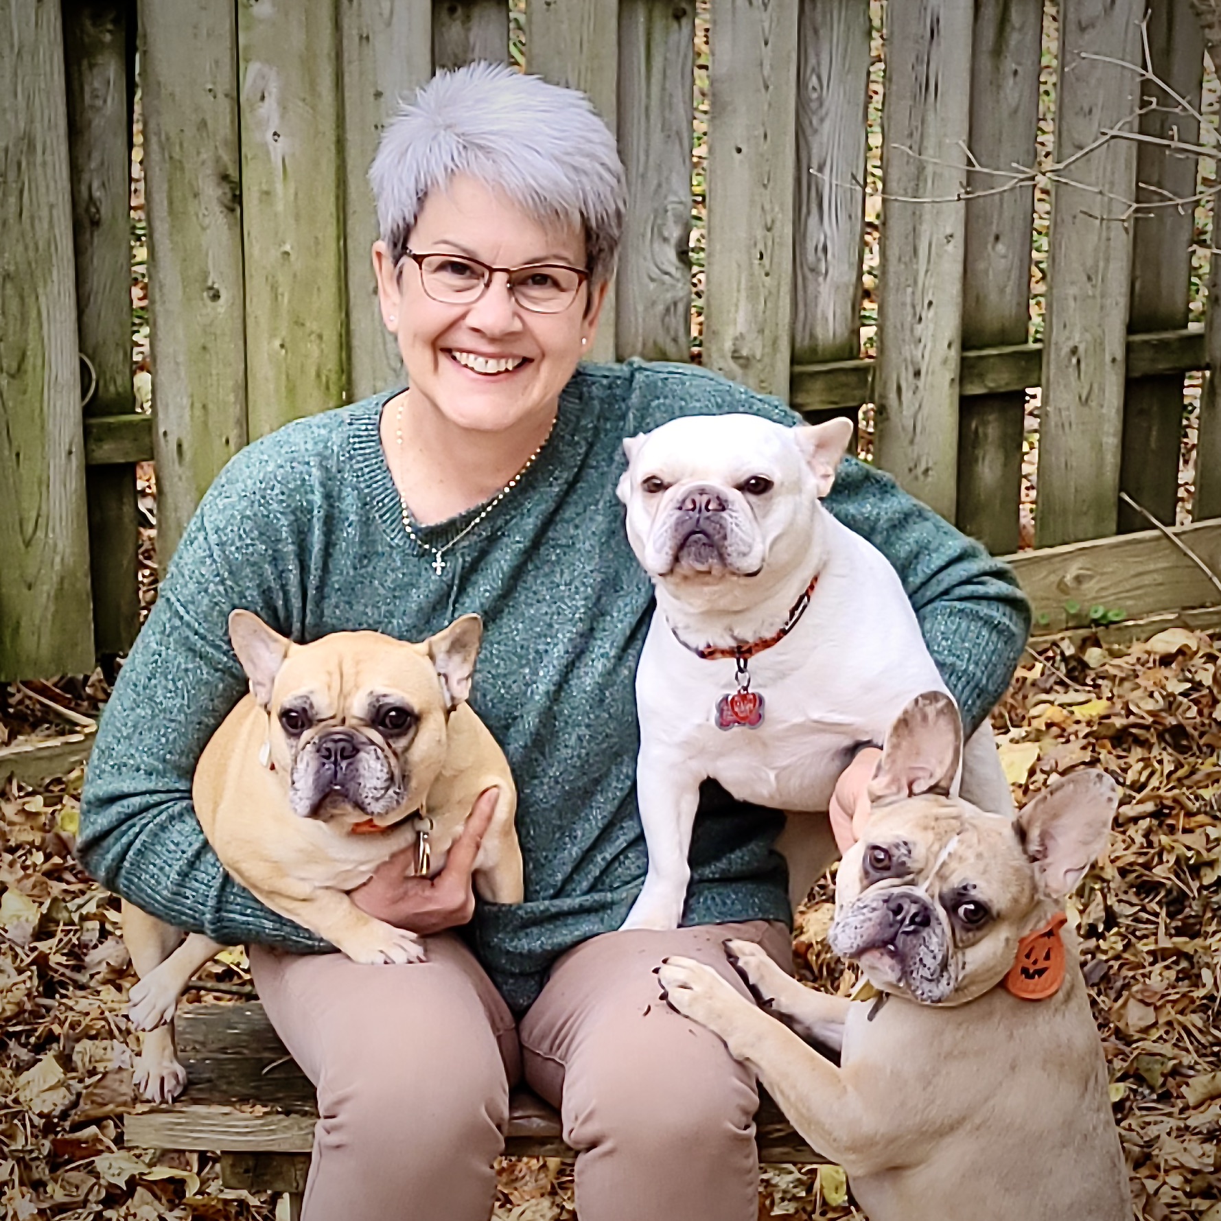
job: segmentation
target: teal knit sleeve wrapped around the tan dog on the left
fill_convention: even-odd
[[[264,448],[252,447],[204,498],[103,714],[77,855],[104,885],[179,928],[308,951],[326,943],[226,873],[190,799],[199,755],[247,686],[230,610],[247,607],[286,634],[299,620],[294,536],[306,513],[297,492],[294,507]]]

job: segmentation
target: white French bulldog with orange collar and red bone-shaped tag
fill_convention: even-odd
[[[913,696],[945,691],[899,575],[822,504],[851,436],[845,419],[701,415],[624,442],[618,495],[657,591],[636,672],[648,873],[624,928],[679,926],[705,779],[825,812],[855,751],[880,746]],[[988,726],[968,777],[989,808],[1012,808]],[[790,819],[780,846],[800,900],[835,856],[827,819]]]

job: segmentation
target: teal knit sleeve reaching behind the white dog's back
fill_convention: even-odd
[[[1012,570],[882,471],[846,458],[827,508],[890,560],[965,730],[1005,694],[1031,629]]]

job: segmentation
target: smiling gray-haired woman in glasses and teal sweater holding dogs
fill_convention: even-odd
[[[582,1221],[746,1221],[755,1082],[657,1002],[651,971],[686,954],[741,987],[726,935],[788,961],[778,816],[711,795],[689,927],[613,932],[645,875],[632,679],[651,610],[613,490],[621,438],[675,415],[796,416],[694,368],[578,366],[623,215],[614,140],[582,95],[491,65],[438,76],[387,128],[371,181],[382,316],[410,388],[297,421],[216,480],[103,722],[82,858],[154,915],[250,945],[267,1012],[319,1090],[309,1221],[486,1219],[519,1076],[580,1150]],[[827,503],[895,564],[973,729],[1024,641],[1011,576],[855,460]],[[523,905],[475,908],[479,806],[436,883],[399,862],[357,893],[436,934],[422,965],[316,952],[226,877],[190,778],[245,687],[225,626],[236,606],[294,640],[418,640],[484,617],[473,705],[516,778]]]

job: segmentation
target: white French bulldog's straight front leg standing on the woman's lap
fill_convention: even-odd
[[[684,768],[681,761],[641,746],[636,797],[648,847],[648,872],[623,928],[670,929],[681,924],[691,879],[687,851],[700,807],[701,779]]]

